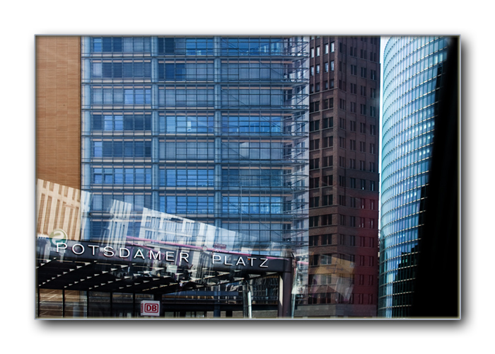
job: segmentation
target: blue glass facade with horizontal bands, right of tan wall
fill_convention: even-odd
[[[81,56],[82,240],[307,264],[304,38],[83,37]]]

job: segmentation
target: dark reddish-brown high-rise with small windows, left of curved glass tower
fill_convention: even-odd
[[[308,316],[376,316],[380,38],[310,38]],[[297,313],[297,312],[296,312]]]

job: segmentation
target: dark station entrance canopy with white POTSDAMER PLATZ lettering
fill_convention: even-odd
[[[132,239],[37,239],[40,289],[163,295],[286,273],[292,259]]]

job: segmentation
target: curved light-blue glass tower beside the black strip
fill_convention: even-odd
[[[378,316],[409,316],[448,41],[392,37],[385,46]]]

